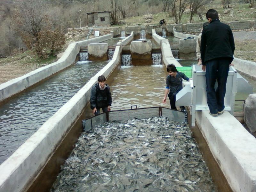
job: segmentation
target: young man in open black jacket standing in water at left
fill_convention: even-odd
[[[94,115],[100,114],[100,108],[102,108],[103,112],[110,111],[112,97],[110,87],[106,84],[105,76],[99,76],[98,83],[92,87],[90,102]]]

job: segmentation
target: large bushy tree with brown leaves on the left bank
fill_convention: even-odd
[[[57,28],[57,23],[54,24],[44,0],[22,0],[16,4],[13,26],[26,46],[39,58],[53,54],[65,43],[64,34]]]

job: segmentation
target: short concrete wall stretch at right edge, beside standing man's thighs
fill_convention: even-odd
[[[234,58],[232,63],[237,71],[256,79],[256,62]]]

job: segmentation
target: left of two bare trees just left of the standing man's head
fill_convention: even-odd
[[[175,18],[175,23],[180,23],[182,14],[184,13],[186,7],[189,5],[188,0],[164,0],[168,5],[170,5],[170,8],[172,10],[172,13]]]

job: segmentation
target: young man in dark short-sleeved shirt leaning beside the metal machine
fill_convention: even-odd
[[[169,75],[166,77],[166,90],[164,94],[163,103],[166,103],[167,95],[170,99],[171,108],[177,110],[176,108],[176,94],[182,89],[182,79],[189,81],[189,78],[179,71],[177,71],[175,65],[167,65],[167,72]],[[168,94],[169,93],[169,94]],[[181,112],[186,112],[185,107],[180,107]]]

